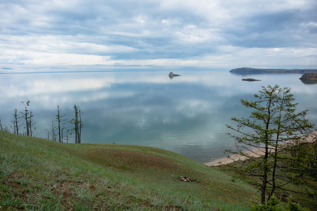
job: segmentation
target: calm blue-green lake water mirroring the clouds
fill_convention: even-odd
[[[240,98],[251,99],[261,86],[291,87],[298,109],[309,109],[317,125],[317,84],[303,84],[298,74],[249,75],[261,82],[243,82],[246,76],[230,72],[94,72],[0,74],[0,118],[10,124],[14,108],[23,111],[29,100],[35,136],[47,137],[57,105],[68,120],[73,105],[80,106],[82,143],[118,143],[154,146],[209,162],[223,157],[234,141],[225,124],[231,117],[247,117]],[[73,137],[70,142],[74,142]]]

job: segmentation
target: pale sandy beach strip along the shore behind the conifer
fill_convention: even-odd
[[[312,132],[311,134],[309,134],[309,136],[307,136],[306,141],[307,142],[316,141],[316,137],[317,137],[317,132]],[[254,156],[254,158],[259,158],[261,155],[264,155],[264,152],[261,150],[263,150],[263,149],[254,148],[253,150],[247,151],[246,153],[248,155]],[[228,164],[231,162],[235,162],[237,160],[247,160],[247,157],[242,156],[242,155],[229,155],[225,158],[218,158],[218,159],[213,160],[211,162],[206,162],[206,163],[204,163],[204,165],[206,165],[206,166],[225,165],[225,164]]]

